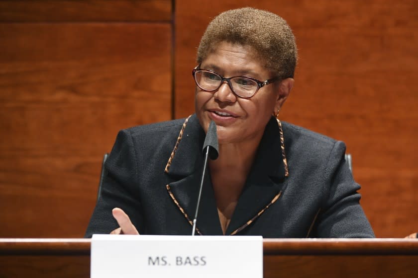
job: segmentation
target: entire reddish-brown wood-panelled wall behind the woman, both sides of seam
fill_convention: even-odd
[[[297,37],[282,119],[347,143],[377,236],[417,231],[417,1],[176,1],[172,88],[171,0],[2,0],[0,237],[82,236],[117,131],[193,113],[200,37],[241,6]]]

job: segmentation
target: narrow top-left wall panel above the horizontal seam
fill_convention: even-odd
[[[171,19],[171,0],[0,1],[0,22],[168,22]]]

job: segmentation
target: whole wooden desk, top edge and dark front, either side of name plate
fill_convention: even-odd
[[[90,244],[0,239],[0,278],[88,278]],[[265,278],[418,277],[418,239],[265,239],[263,249]]]

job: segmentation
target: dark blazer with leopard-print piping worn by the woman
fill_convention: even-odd
[[[115,207],[129,215],[141,234],[190,235],[204,139],[196,115],[120,131],[105,163],[102,196],[86,237],[118,227],[111,214]],[[374,237],[344,153],[341,141],[272,118],[226,234]],[[208,177],[197,232],[221,235]]]

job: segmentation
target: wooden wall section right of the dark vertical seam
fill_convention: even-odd
[[[176,2],[175,112],[194,112],[196,48],[211,18],[242,6],[284,17],[297,38],[296,85],[281,118],[346,142],[378,237],[418,230],[418,2]]]

